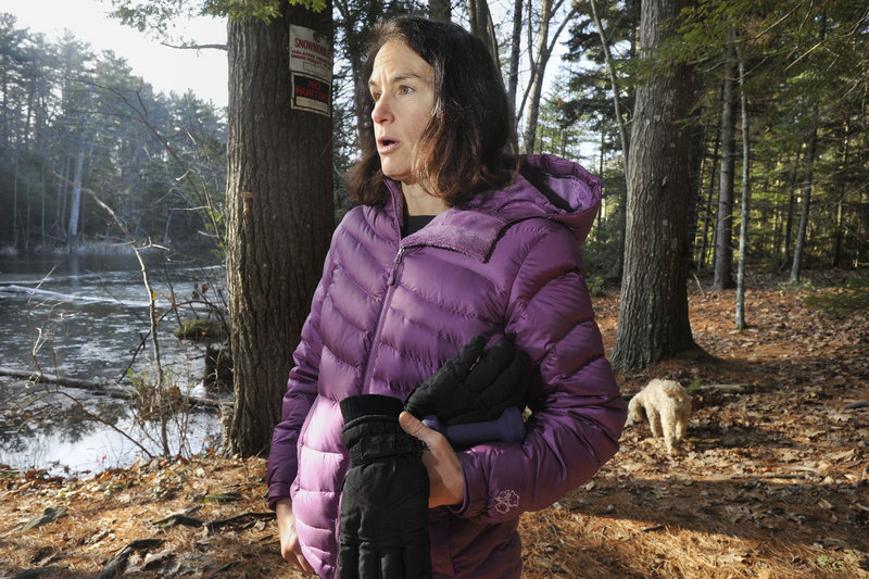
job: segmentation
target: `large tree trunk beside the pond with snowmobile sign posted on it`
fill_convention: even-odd
[[[228,25],[229,453],[266,451],[333,228],[331,122],[291,109],[289,24],[331,38],[331,3]]]

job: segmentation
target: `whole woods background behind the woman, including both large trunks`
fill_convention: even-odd
[[[96,54],[73,36],[49,41],[0,15],[0,247],[128,242],[102,201],[142,247],[225,254],[232,319],[281,327],[279,339],[251,322],[232,328],[230,445],[242,454],[266,448],[289,352],[347,209],[341,176],[369,123],[355,108],[363,47],[383,14],[429,13],[489,38],[521,149],[602,176],[604,203],[584,256],[592,288],[621,282],[618,367],[693,345],[691,272],[726,288],[746,265],[796,282],[801,267],[869,262],[865,2],[112,4],[123,22],[156,32],[178,10],[228,17],[229,105],[155,93],[116,54]],[[333,37],[330,131],[304,130],[313,113],[289,112],[291,23]],[[251,92],[240,78],[263,63],[276,73],[257,74]],[[266,154],[269,163],[255,162]],[[275,237],[247,255],[251,231]],[[247,286],[262,284],[266,254],[282,256],[274,277]]]

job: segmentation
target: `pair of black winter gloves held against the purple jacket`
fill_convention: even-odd
[[[423,444],[401,428],[399,414],[437,416],[452,426],[493,420],[509,406],[521,407],[521,355],[506,340],[484,348],[486,338],[471,338],[404,404],[379,394],[341,401],[351,468],[341,500],[340,579],[431,577]]]

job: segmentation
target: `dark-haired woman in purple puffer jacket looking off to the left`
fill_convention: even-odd
[[[525,442],[455,453],[406,412],[401,426],[428,449],[433,576],[518,577],[519,515],[591,478],[625,421],[579,253],[600,181],[565,160],[511,154],[500,73],[461,27],[393,20],[367,62],[373,127],[349,179],[361,205],[332,237],[272,443],[281,554],[336,576],[341,401],[405,400],[482,335],[528,360]]]

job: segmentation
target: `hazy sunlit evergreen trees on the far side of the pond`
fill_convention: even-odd
[[[225,113],[155,93],[111,51],[48,42],[0,14],[0,246],[124,241],[90,191],[142,240],[223,238]],[[204,234],[204,235],[203,235]]]

